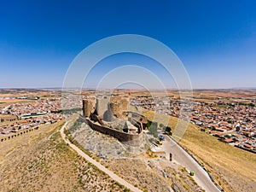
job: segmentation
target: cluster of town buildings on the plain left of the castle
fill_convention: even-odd
[[[0,135],[10,134],[64,119],[61,99],[40,99],[34,102],[16,103],[1,109]]]

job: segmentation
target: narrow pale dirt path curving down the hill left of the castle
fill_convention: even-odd
[[[123,178],[119,177],[118,175],[116,175],[113,172],[111,172],[110,170],[108,170],[105,166],[102,166],[102,164],[100,164],[96,160],[93,160],[92,158],[90,158],[90,156],[88,156],[87,154],[84,154],[84,152],[80,148],[75,146],[73,143],[70,143],[70,141],[66,139],[65,134],[64,134],[64,128],[66,127],[67,123],[68,122],[66,122],[66,124],[61,127],[61,137],[63,138],[65,143],[68,143],[69,146],[71,148],[73,148],[79,155],[84,157],[85,160],[87,160],[90,163],[92,163],[93,165],[95,165],[98,169],[102,170],[102,172],[107,173],[109,177],[113,178],[113,180],[117,181],[120,184],[123,184],[126,188],[130,189],[131,191],[143,192],[142,190],[134,187],[131,183],[126,182]]]

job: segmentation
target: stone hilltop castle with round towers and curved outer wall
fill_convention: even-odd
[[[121,142],[142,137],[143,122],[148,119],[129,111],[129,97],[100,96],[83,100],[85,122],[96,131],[108,134]]]

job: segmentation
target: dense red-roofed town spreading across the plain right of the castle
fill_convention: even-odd
[[[256,153],[256,108],[253,102],[207,103],[152,96],[131,99],[133,106],[189,120],[190,123],[201,126],[201,131],[211,133],[224,143]]]

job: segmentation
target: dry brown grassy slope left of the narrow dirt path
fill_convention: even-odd
[[[63,142],[55,125],[0,143],[0,191],[125,191]]]

